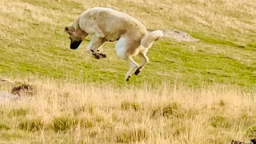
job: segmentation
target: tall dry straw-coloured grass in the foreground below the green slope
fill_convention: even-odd
[[[34,95],[1,105],[0,141],[199,144],[256,136],[255,93],[239,87],[32,82]]]

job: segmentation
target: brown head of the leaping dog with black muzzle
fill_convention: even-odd
[[[77,30],[73,26],[65,26],[65,31],[70,35],[70,49],[75,50],[81,44],[81,42],[86,38],[88,34],[82,31],[80,28]]]

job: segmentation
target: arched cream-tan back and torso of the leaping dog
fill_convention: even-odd
[[[108,41],[115,41],[123,34],[140,40],[147,34],[146,27],[136,18],[110,8],[94,7],[86,10],[80,19],[85,21],[82,22],[86,25],[84,29],[90,27],[88,25],[97,25]]]

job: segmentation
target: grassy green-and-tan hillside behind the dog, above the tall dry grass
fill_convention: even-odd
[[[90,37],[80,49],[70,50],[63,28],[90,7],[108,6],[138,18],[149,29],[183,30],[201,40],[155,42],[148,54],[150,63],[130,83],[256,83],[253,1],[3,0],[0,4],[2,76],[122,84],[128,67],[115,54],[115,42],[103,47],[106,59],[96,60],[86,53]]]

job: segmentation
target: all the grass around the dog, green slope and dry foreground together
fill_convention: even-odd
[[[94,6],[200,41],[162,38],[124,82],[115,42],[101,60],[86,52],[90,37],[69,48],[64,27]],[[0,82],[0,92],[24,82],[35,89],[0,102],[0,143],[248,141],[256,137],[255,18],[254,0],[1,0],[0,78],[18,82]]]

